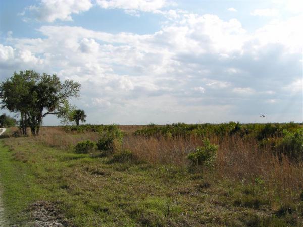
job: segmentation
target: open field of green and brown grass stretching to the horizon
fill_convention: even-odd
[[[66,226],[303,223],[299,124],[43,127],[36,137],[16,130],[0,144],[11,225],[42,221],[37,207]],[[214,160],[190,161],[206,138],[218,145]],[[86,140],[98,149],[75,152]]]

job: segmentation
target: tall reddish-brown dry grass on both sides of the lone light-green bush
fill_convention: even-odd
[[[286,156],[279,160],[269,147],[261,150],[258,141],[253,138],[226,137],[219,140],[212,137],[210,140],[219,144],[214,172],[218,179],[255,183],[258,178],[264,181],[268,191],[275,191],[275,195],[285,201],[290,201],[290,197],[295,200],[301,192],[303,163],[292,163]],[[124,139],[123,147],[142,161],[186,167],[190,165],[186,155],[202,144],[202,139],[194,136],[169,139],[129,136]]]

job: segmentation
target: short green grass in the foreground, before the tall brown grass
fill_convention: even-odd
[[[28,207],[39,200],[54,203],[75,226],[299,226],[302,220],[298,213],[275,215],[262,183],[217,180],[201,169],[113,162],[33,141],[1,142],[10,224],[29,221]]]

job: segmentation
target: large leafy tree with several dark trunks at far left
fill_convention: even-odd
[[[23,134],[30,127],[34,136],[39,134],[42,119],[56,115],[66,120],[72,107],[68,99],[78,97],[80,84],[72,80],[60,81],[56,74],[48,75],[26,70],[1,82],[1,107],[20,113]]]

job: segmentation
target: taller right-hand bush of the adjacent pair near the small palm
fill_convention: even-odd
[[[121,150],[124,134],[117,125],[103,127],[99,133],[100,139],[97,143],[99,150]]]

